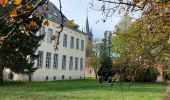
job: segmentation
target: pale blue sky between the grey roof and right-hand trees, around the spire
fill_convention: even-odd
[[[50,0],[59,8],[58,0]],[[86,18],[88,16],[89,26],[92,28],[94,38],[103,38],[105,31],[114,31],[115,25],[117,25],[122,16],[113,15],[108,18],[106,22],[98,20],[103,19],[103,15],[100,11],[93,10],[90,8],[92,0],[61,0],[63,14],[69,19],[74,20],[76,24],[85,30]],[[101,6],[101,2],[95,3],[98,7]]]

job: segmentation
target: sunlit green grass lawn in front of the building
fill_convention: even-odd
[[[100,87],[97,80],[8,82],[0,87],[0,100],[163,100],[161,83],[114,83]]]

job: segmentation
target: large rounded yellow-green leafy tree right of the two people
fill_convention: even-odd
[[[150,21],[155,23],[152,28]],[[135,80],[153,81],[150,77],[158,75],[157,70],[164,66],[163,61],[167,58],[165,55],[169,50],[169,27],[162,18],[155,19],[152,13],[144,16],[142,20],[137,19],[129,26],[125,33],[118,26],[113,38],[112,50],[119,53],[118,58],[121,58],[119,60],[123,64],[121,72],[126,73],[125,79],[134,77]],[[123,44],[123,47],[119,44]],[[148,76],[149,74],[152,76]],[[153,78],[156,80],[156,77]]]

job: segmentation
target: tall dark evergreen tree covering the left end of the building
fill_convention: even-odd
[[[11,1],[9,1],[11,2]],[[14,0],[8,4],[0,2],[3,15],[0,18],[0,84],[3,84],[3,69],[9,68],[15,73],[27,74],[33,68],[37,58],[35,51],[44,35],[37,35],[43,17],[35,13],[42,1]],[[35,6],[34,6],[35,4]],[[19,7],[20,6],[20,7]],[[5,9],[5,11],[4,11]],[[22,10],[22,12],[21,12]]]

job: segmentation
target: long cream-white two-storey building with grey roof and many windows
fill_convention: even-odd
[[[60,35],[58,50],[54,50],[55,41],[51,40],[51,35],[58,35],[61,15],[56,6],[49,3],[48,19],[49,26],[43,26],[39,34],[44,34],[41,46],[37,50],[39,59],[34,66],[39,69],[32,74],[33,81],[52,81],[65,79],[81,79],[85,76],[85,53],[86,39],[85,33],[77,27],[67,27],[67,18],[64,18],[64,29]],[[44,7],[40,7],[42,11]],[[4,76],[7,79],[10,71],[6,70]],[[28,76],[14,74],[14,80],[28,80]]]

